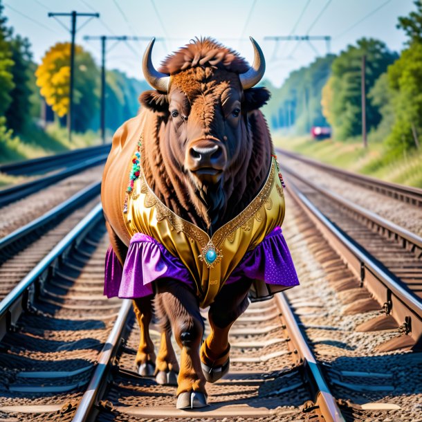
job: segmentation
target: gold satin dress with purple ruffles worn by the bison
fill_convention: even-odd
[[[225,284],[248,278],[266,284],[299,284],[280,228],[284,194],[274,158],[264,186],[240,213],[212,237],[169,210],[150,189],[142,169],[125,204],[131,242],[122,268],[113,250],[106,257],[104,294],[143,297],[153,282],[172,278],[191,286],[201,307]]]

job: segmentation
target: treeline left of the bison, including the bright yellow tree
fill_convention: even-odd
[[[57,43],[46,52],[42,63],[36,64],[28,39],[8,27],[0,0],[0,141],[5,143],[12,134],[27,134],[34,127],[42,127],[45,118],[66,125],[70,51],[70,43]],[[76,46],[75,52],[73,129],[97,131],[100,68],[82,46]],[[106,80],[106,125],[112,132],[136,116],[138,95],[148,85],[116,70],[107,71]]]

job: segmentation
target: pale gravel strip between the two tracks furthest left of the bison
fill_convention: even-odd
[[[91,183],[100,181],[102,169],[102,165],[96,165],[1,207],[0,238],[40,217]]]

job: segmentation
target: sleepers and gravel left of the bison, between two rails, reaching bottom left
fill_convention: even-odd
[[[1,421],[71,421],[121,304],[102,295],[107,246],[100,221],[1,340]]]

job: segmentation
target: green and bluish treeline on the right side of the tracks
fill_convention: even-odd
[[[327,55],[291,73],[266,114],[273,129],[309,134],[312,126],[330,125],[346,140],[362,134],[361,77],[366,59],[367,129],[386,145],[419,147],[422,135],[422,3],[397,28],[408,40],[401,55],[377,39],[359,39],[339,55]],[[375,137],[377,137],[375,136]]]

